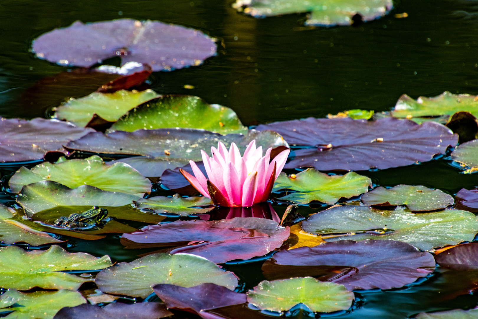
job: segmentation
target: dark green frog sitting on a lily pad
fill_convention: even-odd
[[[62,216],[55,220],[54,225],[64,228],[89,229],[104,224],[107,220],[108,210],[93,206],[82,213],[74,213],[70,216]]]

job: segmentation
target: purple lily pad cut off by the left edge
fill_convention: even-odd
[[[36,118],[30,121],[0,117],[0,162],[42,159],[47,152],[64,152],[62,144],[79,139],[90,128]]]

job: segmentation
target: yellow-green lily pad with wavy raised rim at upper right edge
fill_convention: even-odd
[[[424,116],[453,115],[459,111],[467,111],[478,117],[478,97],[446,91],[434,98],[419,97],[414,100],[403,94],[391,115],[399,119],[413,120]]]

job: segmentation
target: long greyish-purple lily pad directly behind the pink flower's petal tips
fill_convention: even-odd
[[[289,145],[282,136],[271,131],[257,132],[249,130],[247,135],[212,133],[193,129],[156,129],[134,132],[115,131],[109,134],[100,132],[87,134],[84,138],[68,143],[67,148],[93,153],[143,155],[166,159],[188,159],[202,161],[201,150],[217,147],[222,142],[226,147],[236,143],[241,154],[247,145],[256,140],[257,147]]]

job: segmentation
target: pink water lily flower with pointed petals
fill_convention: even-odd
[[[207,178],[193,161],[189,161],[189,164],[195,176],[182,169],[180,172],[201,194],[211,198],[214,204],[250,207],[267,201],[290,152],[286,149],[271,161],[271,151],[272,148],[269,148],[265,156],[262,156],[262,146],[256,148],[256,140],[253,140],[241,157],[235,143],[231,143],[228,151],[219,142],[217,148],[211,147],[212,157],[201,150]]]

